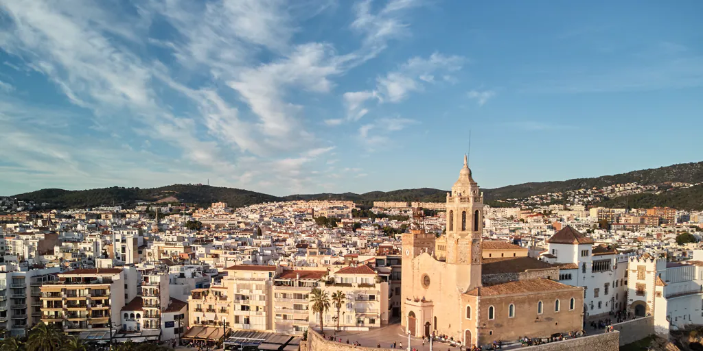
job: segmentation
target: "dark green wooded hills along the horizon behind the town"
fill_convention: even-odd
[[[508,185],[495,189],[484,189],[486,204],[491,206],[508,206],[508,203],[496,200],[520,199],[548,192],[565,192],[567,190],[606,187],[621,183],[639,183],[640,185],[664,185],[666,183],[703,183],[703,162],[690,164],[675,164],[660,168],[645,169],[621,173],[614,176],[596,178],[579,178],[563,181],[524,183]],[[443,202],[446,190],[423,187],[420,189],[403,189],[390,192],[366,192],[356,194],[294,194],[287,197],[275,197],[260,192],[251,192],[231,187],[212,187],[209,185],[167,185],[151,189],[138,187],[107,187],[93,190],[61,190],[44,189],[36,192],[15,195],[21,200],[32,200],[36,203],[48,202],[54,208],[95,207],[100,205],[120,204],[130,206],[136,201],[170,201],[178,199],[190,204],[208,205],[214,201],[225,201],[230,206],[240,207],[259,204],[267,201],[326,200],[338,199],[355,201],[363,206],[370,206],[373,201],[427,201]],[[606,199],[602,206],[614,207],[651,207],[671,206],[674,208],[703,209],[703,186],[682,187],[660,194],[644,193],[627,197]]]

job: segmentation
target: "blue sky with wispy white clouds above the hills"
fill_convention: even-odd
[[[0,1],[0,194],[702,161],[702,1]]]

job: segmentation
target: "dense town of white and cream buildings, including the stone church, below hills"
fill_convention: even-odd
[[[466,164],[444,203],[43,210],[6,197],[0,330],[4,343],[49,329],[95,347],[314,350],[322,334],[510,347],[638,318],[658,334],[703,324],[690,312],[703,296],[703,212],[582,199],[490,207]]]

